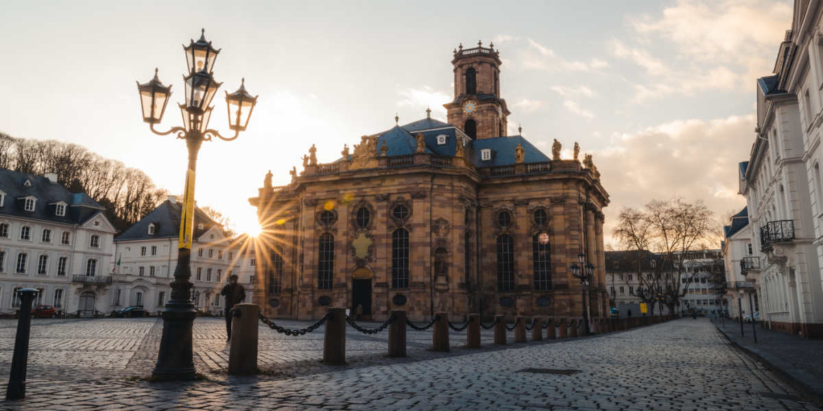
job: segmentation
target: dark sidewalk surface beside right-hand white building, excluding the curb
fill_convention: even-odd
[[[718,324],[718,326],[737,339],[739,344],[746,344],[770,353],[794,367],[823,379],[823,339],[804,339],[782,331],[764,330],[760,328],[760,325],[755,325],[757,333],[755,343],[751,324],[743,325],[742,337],[739,322],[724,320],[723,324]]]

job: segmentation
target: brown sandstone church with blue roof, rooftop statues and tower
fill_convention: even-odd
[[[315,153],[331,149],[312,145],[286,186],[267,175],[249,199],[263,227],[253,295],[264,314],[607,312],[600,174],[590,155],[578,160],[577,143],[574,159],[560,159],[556,140],[550,157],[506,135],[499,55],[493,44],[454,50],[448,122],[395,118],[329,164]],[[570,269],[581,253],[594,266],[586,290]]]

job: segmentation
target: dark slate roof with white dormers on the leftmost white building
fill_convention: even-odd
[[[31,187],[26,186],[28,180]],[[5,201],[0,207],[0,215],[40,219],[64,224],[82,224],[95,215],[105,211],[97,201],[83,193],[74,194],[66,187],[51,182],[49,178],[32,174],[0,169],[0,191],[6,193]],[[24,209],[23,197],[34,196],[34,211]],[[66,215],[57,215],[55,203],[66,203]]]

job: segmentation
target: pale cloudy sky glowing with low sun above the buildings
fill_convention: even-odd
[[[493,42],[509,134],[592,154],[611,233],[623,207],[653,199],[701,199],[718,216],[746,205],[737,163],[755,139],[756,78],[773,72],[792,2],[0,1],[0,15],[0,132],[84,145],[175,194],[184,141],[149,131],[135,81],[158,68],[174,95],[156,128],[180,126],[181,44],[205,29],[224,82],[210,127],[230,134],[222,96],[241,78],[259,95],[247,132],[198,158],[198,205],[241,232],[268,170],[285,185],[312,144],[333,161],[395,113],[444,120],[453,49]]]

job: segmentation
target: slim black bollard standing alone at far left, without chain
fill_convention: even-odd
[[[12,353],[12,371],[8,376],[6,399],[26,398],[26,364],[29,362],[29,336],[31,333],[31,302],[35,300],[36,289],[21,289],[20,313],[17,320],[17,332],[14,336],[14,353]],[[14,296],[12,295],[12,298]],[[22,314],[22,313],[26,314]]]

